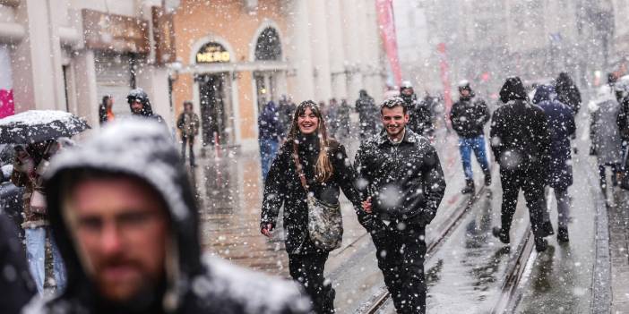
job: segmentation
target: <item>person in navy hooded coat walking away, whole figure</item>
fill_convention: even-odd
[[[557,240],[568,242],[568,219],[570,217],[570,195],[568,187],[573,185],[573,163],[570,138],[576,131],[572,109],[557,99],[555,87],[541,85],[535,92],[533,104],[536,104],[547,116],[550,133],[550,161],[547,169],[547,185],[555,191],[557,199]],[[544,231],[553,233],[553,225],[548,217],[548,208],[544,211]]]

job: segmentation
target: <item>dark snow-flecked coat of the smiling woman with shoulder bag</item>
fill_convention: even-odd
[[[358,220],[363,222],[365,212],[360,209],[360,196],[354,188],[355,173],[349,164],[345,148],[335,140],[330,140],[329,157],[332,162],[332,177],[327,182],[315,182],[315,165],[319,156],[319,143],[316,136],[298,136],[299,162],[310,191],[315,198],[328,204],[338,204],[340,190],[353,204]],[[308,236],[308,207],[306,191],[299,181],[297,166],[293,159],[293,144],[287,140],[273,160],[264,183],[264,199],[261,226],[275,226],[280,208],[284,206],[284,229],[286,250],[289,254],[309,254],[319,249]]]

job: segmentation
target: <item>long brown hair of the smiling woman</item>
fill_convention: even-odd
[[[306,113],[306,108],[310,108],[317,119],[319,119],[319,124],[316,128],[316,135],[319,138],[319,157],[316,159],[315,176],[317,182],[326,182],[332,177],[332,171],[334,169],[332,167],[330,157],[328,156],[328,149],[330,145],[328,141],[328,131],[325,127],[325,120],[323,120],[321,109],[319,109],[319,106],[317,106],[314,101],[306,100],[297,106],[297,110],[295,110],[295,114],[293,115],[293,122],[290,123],[290,132],[287,140],[289,140],[289,142],[297,140],[297,134],[299,133],[297,119],[299,118],[299,115],[304,115],[304,113]]]

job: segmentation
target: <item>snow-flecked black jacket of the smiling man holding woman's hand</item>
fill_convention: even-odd
[[[358,149],[355,167],[364,199],[371,197],[375,216],[425,226],[444,198],[444,172],[435,148],[406,129],[394,145],[383,133]]]

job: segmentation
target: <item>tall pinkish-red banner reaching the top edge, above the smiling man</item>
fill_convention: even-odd
[[[395,21],[393,20],[393,0],[376,0],[376,12],[378,13],[378,28],[383,38],[384,51],[391,64],[395,84],[401,85],[401,68],[398,57],[398,41],[395,36]]]

